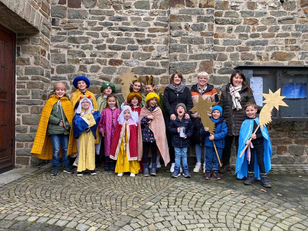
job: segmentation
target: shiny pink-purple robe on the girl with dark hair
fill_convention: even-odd
[[[106,107],[102,111],[99,120],[99,132],[104,132],[105,156],[110,155],[111,141],[120,113],[120,109],[115,108],[112,110],[110,107]]]

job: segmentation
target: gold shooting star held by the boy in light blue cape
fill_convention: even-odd
[[[265,124],[269,124],[272,122],[272,119],[270,117],[270,111],[273,107],[275,107],[277,110],[279,110],[279,106],[286,106],[289,107],[285,102],[282,101],[286,96],[280,96],[280,88],[273,93],[269,89],[269,94],[261,93],[265,100],[262,103],[266,103],[262,110],[260,111],[260,127],[263,129],[263,126]]]

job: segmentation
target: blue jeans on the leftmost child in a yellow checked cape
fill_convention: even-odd
[[[67,157],[67,147],[68,147],[68,136],[64,134],[60,135],[51,135],[52,143],[52,166],[60,166],[59,164],[59,152],[60,152],[60,143],[62,145],[62,164],[63,166],[69,165]]]

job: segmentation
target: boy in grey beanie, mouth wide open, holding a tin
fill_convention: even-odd
[[[184,103],[178,103],[175,108],[176,119],[171,120],[168,130],[171,133],[171,144],[175,151],[175,166],[172,177],[180,176],[180,163],[182,158],[183,175],[190,177],[187,164],[187,148],[189,147],[189,138],[193,135],[193,122],[185,119],[186,106]],[[180,129],[185,128],[185,136],[180,136]],[[182,135],[184,135],[182,133]]]

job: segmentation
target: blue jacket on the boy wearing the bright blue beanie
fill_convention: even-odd
[[[214,143],[216,148],[225,148],[225,137],[227,136],[227,130],[227,125],[224,118],[220,117],[220,120],[215,124]],[[205,135],[204,146],[214,148],[213,141],[209,139],[210,133],[205,132],[204,126],[202,126],[202,134]]]

